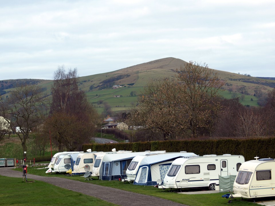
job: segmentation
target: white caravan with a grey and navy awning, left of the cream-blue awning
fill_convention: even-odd
[[[132,154],[102,154],[98,155],[92,169],[92,176],[102,180],[113,180],[126,176],[126,170],[132,159],[137,155],[148,153],[164,153],[164,151],[132,152]]]

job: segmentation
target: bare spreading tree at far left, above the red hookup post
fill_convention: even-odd
[[[18,85],[5,101],[0,101],[1,113],[5,119],[11,118],[11,128],[21,140],[25,158],[30,132],[42,123],[45,114],[46,98],[41,92],[37,85]]]

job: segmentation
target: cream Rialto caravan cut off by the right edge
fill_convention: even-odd
[[[275,196],[275,159],[250,160],[241,165],[233,185],[233,197]]]

